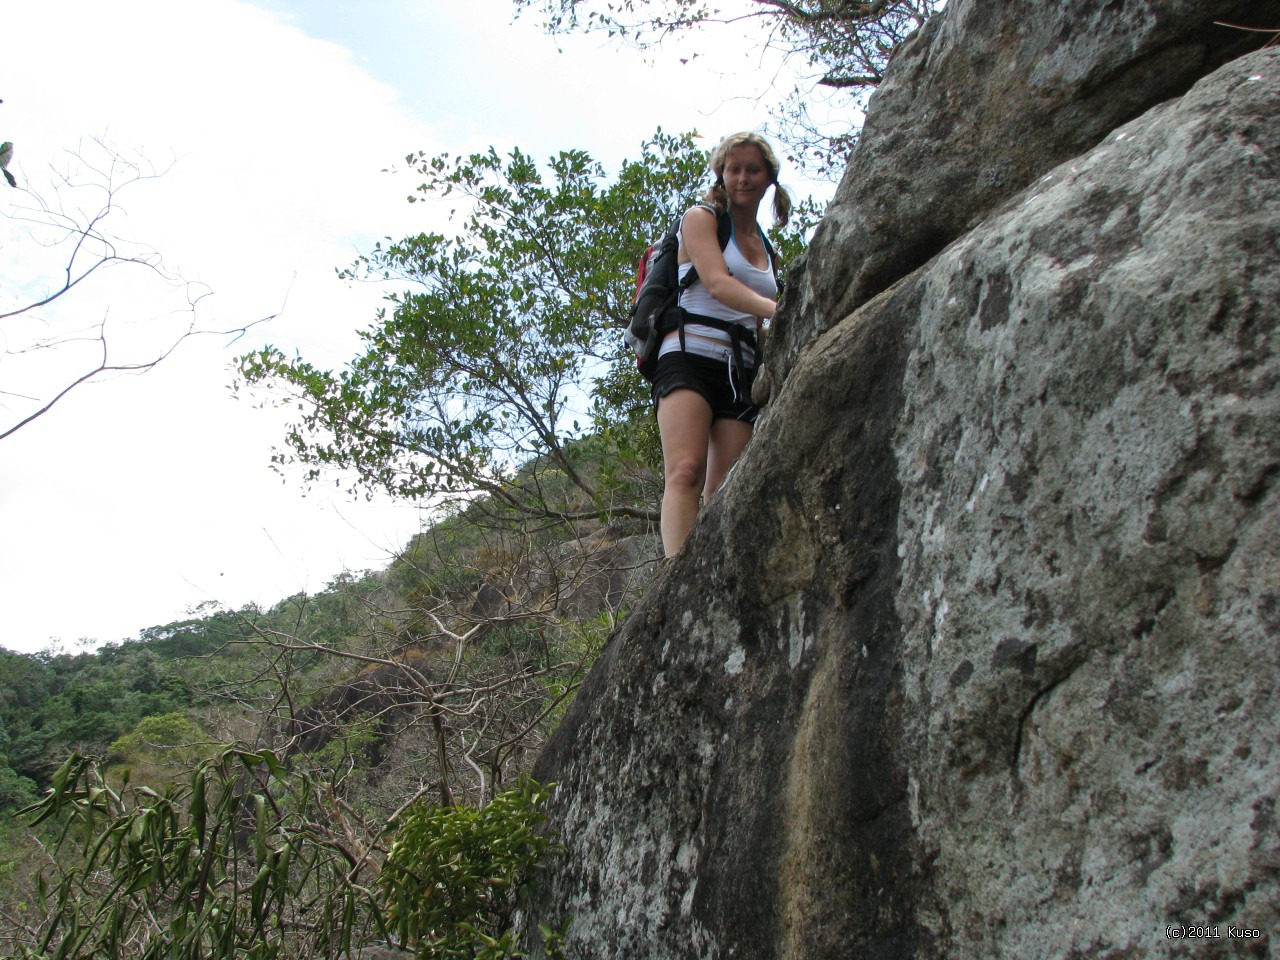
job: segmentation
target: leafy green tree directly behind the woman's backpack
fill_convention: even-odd
[[[692,137],[659,131],[612,182],[580,150],[553,157],[549,177],[520,150],[408,160],[420,198],[451,200],[461,229],[388,241],[344,271],[413,285],[388,298],[347,370],[275,347],[242,357],[244,384],[302,411],[276,461],[312,480],[355,470],[398,497],[484,494],[506,518],[653,518],[627,471],[652,461],[652,417],[620,324],[645,238],[705,180]],[[814,218],[797,205],[774,237],[783,257]]]

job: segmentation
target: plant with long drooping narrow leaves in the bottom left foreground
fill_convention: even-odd
[[[61,831],[22,957],[337,957],[379,924],[367,855],[269,751],[225,750],[159,792],[116,792],[77,754],[29,812]]]

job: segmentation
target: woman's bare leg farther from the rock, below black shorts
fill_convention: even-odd
[[[698,517],[707,480],[712,408],[696,390],[672,390],[658,401],[662,434],[662,549],[675,557]]]

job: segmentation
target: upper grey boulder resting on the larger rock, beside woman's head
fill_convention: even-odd
[[[1270,35],[1280,0],[950,0],[895,52],[771,337],[800,351],[1121,123]]]

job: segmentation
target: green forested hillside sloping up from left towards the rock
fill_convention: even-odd
[[[0,955],[24,956],[54,933],[51,914],[70,936],[189,909],[172,888],[120,900],[113,877],[132,886],[131,870],[145,864],[151,877],[159,860],[172,886],[179,861],[218,849],[215,808],[230,831],[210,892],[232,918],[223,936],[271,914],[288,956],[388,938],[388,923],[413,940],[416,908],[397,913],[372,892],[398,869],[385,863],[389,826],[404,849],[415,829],[447,828],[451,810],[458,829],[495,837],[536,820],[541,794],[521,776],[655,554],[645,521],[521,531],[492,509],[460,511],[388,568],[270,609],[209,611],[96,652],[0,652]],[[204,841],[197,796],[211,824]],[[113,831],[150,836],[157,810],[172,829],[132,849],[132,865],[109,842],[93,849]],[[87,832],[68,833],[77,823]],[[269,837],[264,858],[273,850],[279,864],[288,850],[306,864],[283,868],[274,904],[244,896],[239,868],[224,861],[242,829]],[[490,870],[516,870],[550,841],[530,842]],[[485,902],[486,916],[504,915]],[[329,916],[323,931],[307,919],[315,911]],[[129,950],[147,942],[143,931],[133,940]]]

